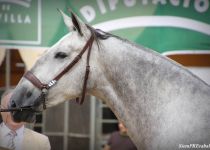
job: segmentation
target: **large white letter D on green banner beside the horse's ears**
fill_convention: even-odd
[[[83,17],[87,20],[87,22],[91,22],[96,17],[96,12],[92,6],[83,6],[80,9],[80,13],[83,15]]]

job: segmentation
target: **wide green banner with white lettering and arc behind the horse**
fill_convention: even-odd
[[[0,0],[0,46],[50,47],[67,33],[57,8],[160,53],[210,50],[209,0]]]

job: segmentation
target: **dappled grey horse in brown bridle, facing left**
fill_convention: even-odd
[[[210,86],[175,61],[60,11],[69,33],[16,86],[17,122],[85,92],[104,101],[141,150],[172,150],[210,139]],[[209,145],[207,145],[209,146]]]

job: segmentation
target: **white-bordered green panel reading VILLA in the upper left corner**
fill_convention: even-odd
[[[1,44],[40,44],[40,5],[41,1],[0,1]]]

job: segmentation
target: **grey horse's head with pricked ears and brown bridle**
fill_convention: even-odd
[[[32,122],[35,112],[43,110],[45,98],[46,106],[50,107],[81,96],[86,56],[94,38],[90,27],[74,13],[71,12],[69,17],[60,12],[70,32],[46,50],[16,86],[9,108],[31,108],[28,111],[12,112],[17,122]]]

